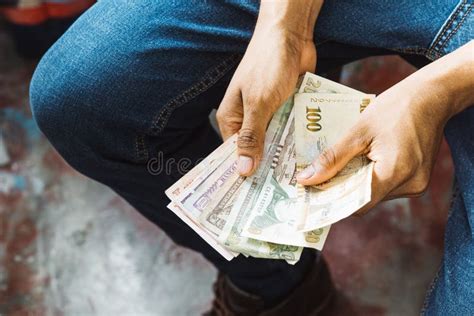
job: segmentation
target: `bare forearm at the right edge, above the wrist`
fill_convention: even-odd
[[[422,68],[415,77],[443,100],[448,118],[474,105],[474,40]]]

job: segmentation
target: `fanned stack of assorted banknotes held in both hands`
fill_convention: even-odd
[[[370,201],[373,163],[356,157],[317,186],[298,184],[296,174],[374,98],[306,73],[274,114],[252,176],[237,173],[234,135],[166,190],[168,208],[227,260],[242,254],[294,264],[303,247],[322,250],[330,225]]]

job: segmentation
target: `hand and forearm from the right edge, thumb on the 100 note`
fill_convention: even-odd
[[[298,182],[315,185],[337,174],[353,157],[375,162],[372,201],[421,195],[428,187],[444,125],[474,104],[473,44],[426,66],[376,98],[359,122],[303,170]]]

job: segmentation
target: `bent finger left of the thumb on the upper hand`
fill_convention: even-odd
[[[231,82],[216,113],[217,125],[224,141],[240,130],[243,116],[240,89]]]

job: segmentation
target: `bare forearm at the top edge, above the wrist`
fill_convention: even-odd
[[[312,41],[323,0],[262,0],[257,20],[257,28],[277,27],[292,36]]]

